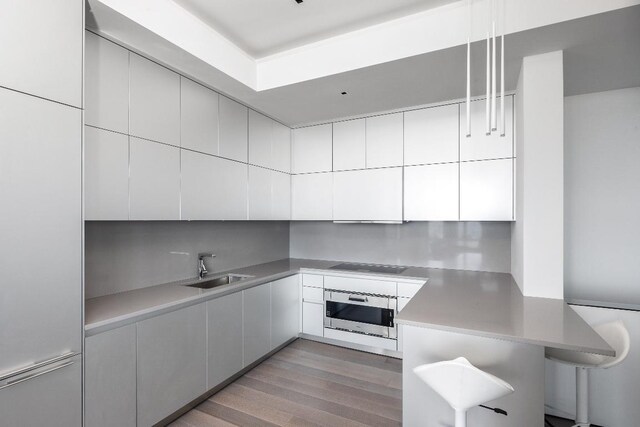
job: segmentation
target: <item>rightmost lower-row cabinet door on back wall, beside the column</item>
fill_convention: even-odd
[[[513,220],[513,159],[460,163],[460,220]]]

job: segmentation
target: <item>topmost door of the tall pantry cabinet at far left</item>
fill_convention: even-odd
[[[2,2],[0,86],[82,107],[83,3]]]

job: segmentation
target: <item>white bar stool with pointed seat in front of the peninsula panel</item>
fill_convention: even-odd
[[[456,411],[456,427],[466,427],[467,411],[513,393],[506,381],[473,366],[464,357],[429,363],[413,372]]]

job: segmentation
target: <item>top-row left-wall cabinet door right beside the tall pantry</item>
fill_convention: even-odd
[[[129,51],[88,31],[85,34],[84,121],[129,133]]]

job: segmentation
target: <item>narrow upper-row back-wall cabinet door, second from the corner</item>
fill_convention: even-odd
[[[365,119],[333,124],[333,170],[366,167]]]

